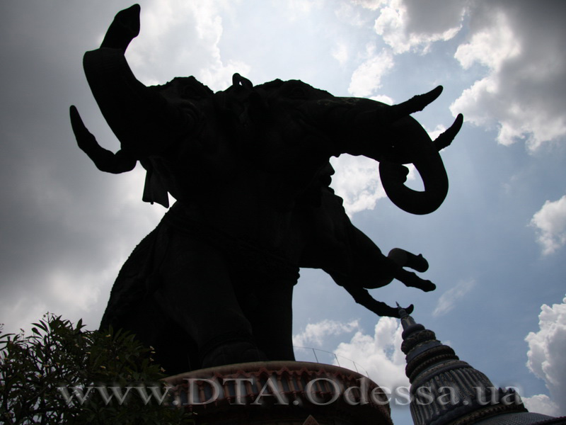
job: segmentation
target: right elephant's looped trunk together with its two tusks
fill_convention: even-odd
[[[433,142],[417,120],[410,117],[410,113],[421,111],[434,101],[441,91],[439,86],[393,106],[362,98],[335,98],[319,103],[326,108],[324,120],[335,140],[333,154],[363,155],[378,161],[388,198],[412,214],[437,210],[448,193],[448,177],[439,150],[454,139],[463,118],[458,115],[451,128]],[[408,169],[402,164],[410,163],[419,172],[424,191],[405,186]]]

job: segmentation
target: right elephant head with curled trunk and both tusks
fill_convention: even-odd
[[[410,113],[421,111],[441,91],[442,87],[438,86],[427,94],[388,106],[366,98],[336,97],[302,81],[275,80],[254,89],[256,99],[248,114],[262,118],[270,115],[268,111],[272,108],[287,123],[286,128],[289,123],[299,123],[310,140],[316,137],[318,141],[313,149],[319,152],[375,159],[391,201],[402,210],[422,215],[439,208],[446,198],[448,177],[439,151],[454,140],[463,116],[458,115],[451,128],[433,141]],[[260,127],[253,122],[248,125]],[[408,169],[403,164],[414,164],[422,177],[424,191],[405,186]]]

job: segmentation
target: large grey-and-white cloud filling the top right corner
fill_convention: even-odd
[[[558,6],[558,5],[557,5]],[[468,123],[497,128],[497,142],[524,140],[534,151],[566,135],[563,16],[555,8],[521,2],[478,2],[469,10],[469,41],[454,57],[483,77],[451,105]]]

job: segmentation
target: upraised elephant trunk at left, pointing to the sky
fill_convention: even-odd
[[[134,77],[124,52],[139,32],[139,6],[121,11],[103,44],[86,52],[88,84],[122,149],[138,159],[163,152],[187,132],[187,116]]]

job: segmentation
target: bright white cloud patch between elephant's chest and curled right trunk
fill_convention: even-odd
[[[373,210],[377,200],[386,198],[379,180],[379,164],[374,159],[340,155],[331,162],[336,170],[331,186],[344,199],[350,217],[354,212]]]

